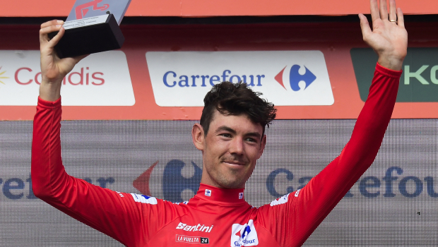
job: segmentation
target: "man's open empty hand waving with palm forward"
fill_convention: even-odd
[[[359,14],[360,28],[364,41],[379,55],[379,64],[394,71],[400,71],[408,49],[408,32],[405,29],[401,8],[396,8],[396,1],[370,0],[372,30],[367,18]]]

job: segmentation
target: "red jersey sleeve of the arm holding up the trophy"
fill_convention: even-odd
[[[61,160],[60,121],[61,100],[39,99],[32,140],[35,195],[127,246],[143,246],[143,236],[149,232],[141,227],[142,217],[154,215],[146,211],[153,208],[141,207],[130,194],[100,188],[66,174]]]

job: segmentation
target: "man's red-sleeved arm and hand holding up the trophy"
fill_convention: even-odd
[[[61,23],[52,20],[40,30],[42,83],[33,126],[33,191],[38,198],[126,246],[144,246],[173,217],[172,205],[148,196],[94,186],[69,176],[62,164],[61,81],[84,56],[59,59],[54,53],[54,45],[64,34]],[[47,34],[58,30],[59,34],[49,40]],[[166,205],[170,210],[159,212]]]

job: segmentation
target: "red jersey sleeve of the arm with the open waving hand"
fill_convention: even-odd
[[[290,193],[285,199],[288,203],[260,208],[266,210],[265,215],[277,217],[277,224],[271,224],[273,220],[269,217],[265,224],[279,243],[301,246],[372,164],[391,119],[400,76],[401,71],[377,64],[367,101],[341,155],[307,186]]]

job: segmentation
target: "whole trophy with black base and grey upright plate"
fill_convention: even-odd
[[[64,23],[66,32],[54,47],[60,59],[120,49],[120,22],[131,0],[76,0]],[[49,34],[50,38],[58,32]]]

